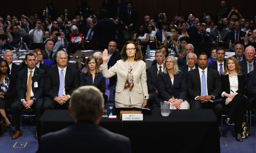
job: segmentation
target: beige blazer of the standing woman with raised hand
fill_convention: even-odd
[[[103,77],[110,78],[117,74],[117,86],[115,93],[115,101],[127,105],[129,99],[131,99],[131,104],[136,105],[143,103],[143,99],[149,98],[148,86],[147,86],[147,75],[146,75],[146,63],[143,61],[135,61],[134,67],[132,69],[134,86],[130,90],[129,88],[124,89],[126,77],[128,74],[129,66],[128,60],[119,60],[117,63],[107,70],[107,64],[101,65],[100,69],[102,71]]]

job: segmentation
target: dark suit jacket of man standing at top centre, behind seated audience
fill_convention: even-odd
[[[123,21],[124,27],[129,27],[130,24],[133,24],[132,29],[135,30],[135,25],[138,20],[138,12],[135,9],[131,9],[131,17],[129,19],[128,9],[122,10],[121,21]]]

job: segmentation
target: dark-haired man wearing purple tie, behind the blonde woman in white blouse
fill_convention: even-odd
[[[219,71],[219,74],[221,75],[225,69],[225,64],[226,64],[226,60],[225,60],[226,49],[223,47],[219,47],[216,49],[216,52],[217,52],[217,61],[210,64],[208,67]]]

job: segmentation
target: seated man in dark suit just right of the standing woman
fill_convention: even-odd
[[[150,93],[148,99],[149,109],[153,109],[154,101],[156,100],[157,91],[157,76],[158,73],[163,72],[164,70],[164,51],[159,49],[155,52],[155,59],[157,64],[151,66],[147,71],[147,85],[148,91]]]

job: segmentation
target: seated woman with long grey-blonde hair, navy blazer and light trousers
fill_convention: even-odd
[[[169,102],[173,105],[173,109],[189,109],[185,74],[179,71],[174,56],[166,58],[164,71],[158,73],[157,90],[158,107],[160,107],[160,102]]]

